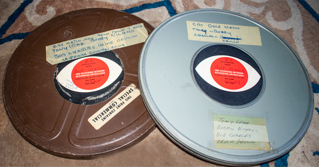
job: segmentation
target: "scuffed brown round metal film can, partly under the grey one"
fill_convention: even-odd
[[[155,123],[143,104],[137,78],[144,42],[85,52],[99,47],[87,43],[103,35],[100,46],[115,43],[108,41],[112,33],[89,35],[140,23],[146,35],[154,29],[132,14],[96,8],[62,14],[33,30],[14,51],[4,74],[4,104],[16,130],[34,146],[67,158],[119,150],[151,133]],[[55,53],[69,49],[54,57],[70,61],[49,64],[50,45]],[[73,49],[80,45],[86,46]]]

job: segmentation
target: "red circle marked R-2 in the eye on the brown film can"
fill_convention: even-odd
[[[98,58],[87,58],[72,69],[72,82],[79,88],[93,90],[102,86],[109,77],[108,65]]]

